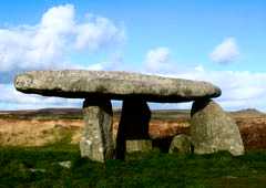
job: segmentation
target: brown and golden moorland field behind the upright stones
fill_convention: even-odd
[[[120,109],[114,111],[114,136],[120,121]],[[231,112],[241,130],[246,149],[266,148],[266,115],[256,109]],[[83,128],[80,108],[40,111],[0,111],[0,146],[42,146],[72,135],[72,143],[80,140]],[[190,134],[190,111],[153,111],[149,134],[152,139],[166,142],[177,134]]]

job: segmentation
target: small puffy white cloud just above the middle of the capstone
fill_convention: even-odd
[[[171,52],[167,48],[156,48],[147,52],[144,66],[147,72],[164,73],[173,67]]]

